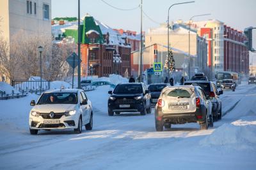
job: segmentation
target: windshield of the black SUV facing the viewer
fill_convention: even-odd
[[[114,90],[114,94],[136,94],[142,93],[141,85],[118,85]]]

